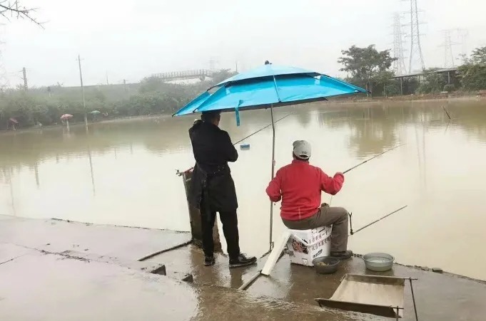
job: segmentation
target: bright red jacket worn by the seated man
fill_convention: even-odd
[[[282,200],[282,219],[298,221],[318,212],[321,191],[335,195],[343,187],[343,182],[341,173],[331,178],[319,167],[294,159],[292,164],[277,171],[266,192],[271,201]]]

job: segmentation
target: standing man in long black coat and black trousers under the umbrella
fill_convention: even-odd
[[[228,132],[219,128],[221,113],[203,112],[189,130],[196,159],[189,202],[201,211],[203,228],[204,265],[215,263],[213,251],[213,226],[219,212],[223,233],[228,244],[230,268],[250,265],[256,258],[247,258],[240,252],[238,235],[238,201],[228,162],[236,162],[238,152],[231,143]]]

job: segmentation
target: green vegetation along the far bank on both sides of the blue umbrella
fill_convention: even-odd
[[[374,45],[356,46],[342,51],[338,63],[348,74],[345,81],[370,91],[370,95],[330,98],[330,102],[378,102],[408,100],[440,100],[486,96],[486,46],[476,48],[456,73],[435,73],[418,77],[393,78],[390,50],[377,51]],[[229,69],[219,70],[213,78],[193,84],[166,83],[149,77],[140,83],[85,86],[86,110],[81,88],[60,84],[0,91],[0,131],[64,125],[60,117],[72,115],[70,124],[172,115],[207,88],[235,75]],[[403,95],[402,95],[403,93]],[[92,113],[93,112],[93,113]]]

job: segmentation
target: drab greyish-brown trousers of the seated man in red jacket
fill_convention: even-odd
[[[307,219],[288,221],[282,219],[283,224],[291,230],[310,230],[333,224],[330,235],[330,251],[342,252],[348,249],[348,211],[342,207],[320,206],[318,212]]]

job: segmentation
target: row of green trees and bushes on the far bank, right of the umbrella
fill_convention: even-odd
[[[341,71],[348,73],[345,78],[350,83],[366,88],[373,96],[393,96],[410,94],[430,94],[442,91],[465,92],[486,89],[486,46],[475,48],[469,57],[462,57],[464,63],[457,73],[434,73],[440,68],[423,70],[425,75],[417,77],[393,78],[392,65],[397,60],[390,50],[378,51],[375,45],[365,48],[352,46],[341,51],[338,63]]]

